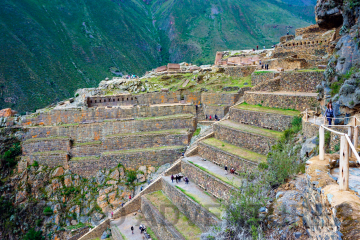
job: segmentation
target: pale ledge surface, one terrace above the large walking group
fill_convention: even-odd
[[[216,177],[222,181],[225,180],[224,182],[231,182],[231,185],[233,185],[235,187],[241,186],[242,180],[237,175],[230,174],[230,173],[225,174],[225,170],[223,167],[220,167],[210,161],[204,161],[204,160],[202,160],[202,158],[200,156],[183,158],[183,161],[191,161],[192,163],[205,168],[207,170],[207,172],[210,173],[211,175],[213,175],[214,177]]]

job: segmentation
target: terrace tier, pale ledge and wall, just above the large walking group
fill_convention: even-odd
[[[232,166],[228,167],[230,169]],[[206,161],[200,156],[183,158],[181,163],[181,173],[184,176],[206,193],[220,200],[228,200],[231,191],[237,190],[242,185],[242,179],[229,172],[225,172],[224,167]]]

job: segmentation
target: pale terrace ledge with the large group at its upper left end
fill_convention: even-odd
[[[176,183],[174,180],[174,182],[172,183],[171,176],[163,177],[163,179],[169,182],[174,187],[178,186],[182,190],[185,190],[186,195],[190,195],[191,196],[190,198],[194,198],[195,199],[195,200],[193,199],[194,201],[199,203],[204,208],[208,209],[218,218],[221,217],[221,213],[222,213],[221,204],[214,197],[206,194],[195,183],[189,182],[189,184],[185,184],[183,180],[181,180],[181,182],[179,183]]]

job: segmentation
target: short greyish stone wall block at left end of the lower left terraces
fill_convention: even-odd
[[[66,151],[70,150],[70,139],[49,138],[49,139],[28,139],[22,142],[23,155],[33,152]]]

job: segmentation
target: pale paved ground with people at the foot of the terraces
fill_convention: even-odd
[[[138,212],[136,212],[135,216],[134,213],[131,213],[110,222],[111,226],[115,225],[118,228],[122,236],[125,236],[126,239],[131,239],[131,240],[143,240],[144,235],[141,234],[139,230],[140,224],[143,224],[146,227],[149,226],[142,213],[138,213]],[[134,226],[134,234],[131,233],[131,226]]]

